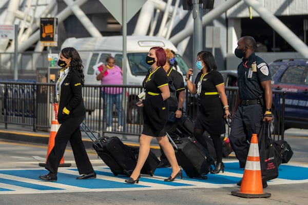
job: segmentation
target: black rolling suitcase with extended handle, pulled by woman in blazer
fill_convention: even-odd
[[[93,142],[93,148],[110,168],[111,172],[117,176],[119,174],[130,176],[136,167],[136,157],[128,146],[124,145],[119,137],[99,137],[97,138],[88,126],[83,125],[90,131],[92,137],[80,126]],[[94,139],[93,139],[94,138]]]

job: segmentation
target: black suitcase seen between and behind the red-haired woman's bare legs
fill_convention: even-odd
[[[138,159],[138,154],[139,154],[139,148],[138,147],[129,147],[136,156],[136,159]],[[150,176],[154,175],[154,172],[156,168],[159,165],[160,160],[157,158],[155,153],[150,151],[149,156],[147,157],[142,169],[141,169],[141,174],[148,174]]]

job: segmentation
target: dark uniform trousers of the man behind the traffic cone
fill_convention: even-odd
[[[245,168],[252,135],[259,134],[263,124],[262,106],[240,105],[231,123],[230,143],[239,160],[240,168]]]

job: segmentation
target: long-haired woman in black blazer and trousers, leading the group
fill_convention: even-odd
[[[47,158],[45,168],[49,173],[40,178],[45,181],[57,180],[57,168],[68,141],[70,141],[79,174],[83,174],[77,179],[95,178],[96,173],[82,142],[79,127],[86,114],[82,98],[83,65],[79,53],[74,48],[62,49],[58,66],[62,69],[55,90],[59,104],[57,120],[61,126],[56,133],[54,147]]]

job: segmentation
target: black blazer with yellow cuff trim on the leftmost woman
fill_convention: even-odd
[[[62,124],[71,117],[85,117],[85,115],[86,108],[82,98],[81,74],[73,70],[66,76],[61,85],[57,120]]]

